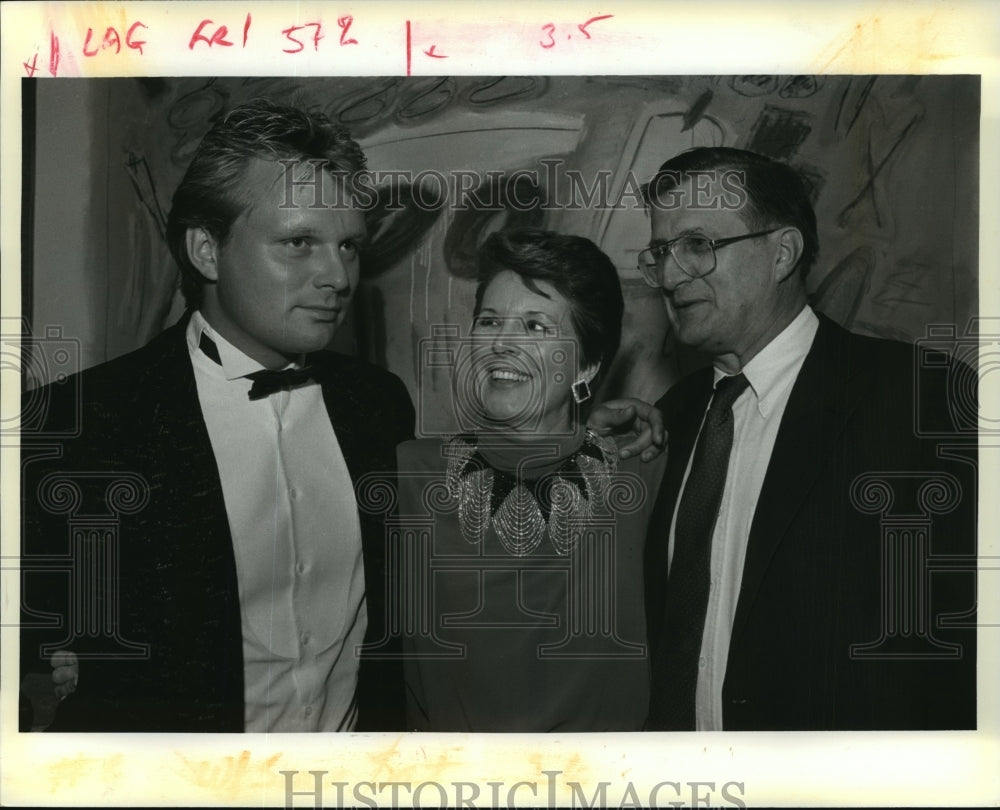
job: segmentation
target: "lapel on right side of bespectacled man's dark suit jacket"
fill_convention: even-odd
[[[840,442],[869,377],[850,334],[820,316],[785,408],[747,545],[733,637],[745,624],[767,567]]]

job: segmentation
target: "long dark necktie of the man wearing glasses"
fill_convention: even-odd
[[[742,374],[723,377],[716,385],[677,508],[662,638],[666,671],[653,684],[660,694],[656,702],[663,710],[663,716],[655,718],[656,724],[671,731],[695,728],[695,691],[708,608],[712,534],[733,447],[733,403],[747,385]]]

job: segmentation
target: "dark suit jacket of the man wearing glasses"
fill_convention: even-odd
[[[929,357],[820,317],[750,530],[726,729],[975,727],[976,437],[955,424],[963,394],[975,412],[975,376],[953,367],[960,385],[972,382],[962,392]],[[669,459],[646,551],[650,729],[663,727],[671,699],[657,690],[671,665],[669,527],[711,388],[703,369],[658,403]],[[937,489],[922,490],[931,479]],[[881,500],[889,490],[891,504]],[[965,614],[962,627],[939,626],[949,613]]]

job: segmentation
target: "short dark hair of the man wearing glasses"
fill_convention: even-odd
[[[706,173],[721,172],[732,173],[722,182],[723,186],[728,184],[731,191],[746,196],[740,215],[747,227],[756,231],[791,225],[799,230],[802,255],[797,267],[805,278],[819,254],[816,213],[802,177],[785,163],[727,146],[688,149],[660,166],[646,187],[647,205],[669,208],[668,194],[681,183],[688,179],[695,181],[694,178]]]

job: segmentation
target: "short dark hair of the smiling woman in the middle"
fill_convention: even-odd
[[[516,273],[539,295],[545,293],[537,282],[546,281],[569,302],[573,328],[580,338],[581,361],[584,365],[600,363],[599,379],[618,351],[625,311],[618,271],[611,259],[582,236],[538,228],[491,234],[479,249],[475,315],[482,308],[486,287],[504,270]]]

